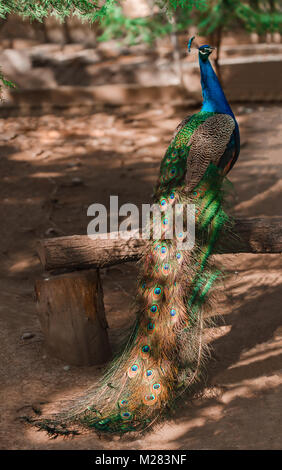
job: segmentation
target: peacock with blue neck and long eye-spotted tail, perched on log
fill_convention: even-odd
[[[239,156],[240,135],[209,60],[214,48],[199,46],[194,37],[189,52],[192,47],[198,49],[203,104],[179,124],[161,161],[154,192],[161,235],[148,240],[140,261],[136,322],[98,385],[66,411],[33,421],[49,434],[75,433],[68,429],[75,422],[101,433],[143,431],[201,377],[206,312],[222,276],[210,256],[232,226],[223,208],[225,181]],[[191,250],[179,249],[181,232],[165,236],[173,224],[167,208],[191,204],[196,243]]]

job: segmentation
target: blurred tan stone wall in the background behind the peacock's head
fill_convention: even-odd
[[[281,14],[276,22],[269,16],[278,3],[245,2],[252,16],[228,0],[172,14],[153,0],[125,0],[93,24],[8,15],[0,24],[0,65],[17,90],[6,90],[1,113],[152,99],[198,103],[197,55],[187,54],[192,34],[217,46],[215,66],[231,101],[280,101]]]

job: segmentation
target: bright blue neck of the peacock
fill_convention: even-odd
[[[235,119],[209,59],[202,59],[201,54],[199,54],[199,62],[203,94],[201,110],[229,114]]]

